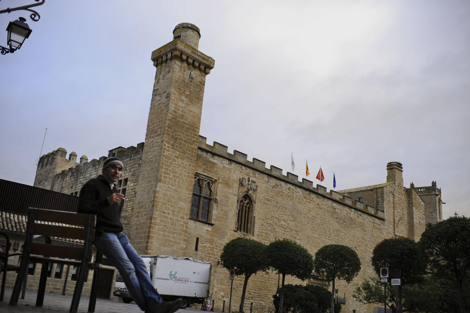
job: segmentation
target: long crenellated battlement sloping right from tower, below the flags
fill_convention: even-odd
[[[361,211],[368,215],[372,215],[380,219],[385,219],[383,211],[378,211],[374,207],[365,205],[364,203],[361,203],[359,201],[352,201],[352,199],[348,197],[347,195],[337,193],[332,190],[328,192],[326,187],[318,185],[318,184],[316,185],[316,187],[314,187],[313,182],[310,180],[303,178],[301,182],[299,181],[298,175],[295,175],[291,172],[287,172],[286,175],[283,175],[282,169],[280,168],[277,168],[271,165],[270,168],[268,169],[266,168],[266,163],[264,161],[258,160],[256,158],[253,158],[252,161],[249,161],[248,155],[243,152],[234,150],[234,153],[232,154],[228,152],[228,146],[224,144],[219,144],[217,142],[214,142],[213,145],[210,145],[210,144],[207,144],[206,141],[207,141],[206,137],[199,136],[198,148],[201,150],[207,151],[211,154],[230,160],[232,162],[238,163],[247,168],[257,170],[268,176],[282,180],[286,183],[311,191],[312,193],[316,193],[323,197],[327,197],[335,202],[339,202],[341,204],[349,206],[355,210]]]

